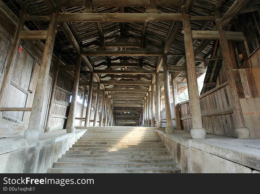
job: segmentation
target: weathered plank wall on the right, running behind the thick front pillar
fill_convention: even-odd
[[[179,103],[182,129],[191,130],[189,101]],[[229,86],[224,83],[200,96],[203,127],[210,134],[234,137]]]

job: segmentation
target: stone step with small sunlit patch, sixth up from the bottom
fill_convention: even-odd
[[[71,147],[70,151],[167,151],[167,148]]]

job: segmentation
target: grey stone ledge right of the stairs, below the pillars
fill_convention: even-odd
[[[157,130],[157,132],[186,148],[193,147],[243,166],[260,170],[260,139],[236,139],[207,134],[204,140],[194,140],[188,131],[176,130],[173,134],[167,134],[165,130]]]

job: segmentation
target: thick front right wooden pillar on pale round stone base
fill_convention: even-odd
[[[206,130],[202,126],[201,108],[199,102],[199,91],[196,76],[195,56],[191,34],[189,14],[185,13],[184,6],[181,8],[183,16],[184,44],[187,65],[187,82],[189,93],[189,107],[191,113],[191,137],[193,139],[205,139]]]

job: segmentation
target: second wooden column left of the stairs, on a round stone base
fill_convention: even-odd
[[[67,123],[66,123],[67,133],[74,133],[76,130],[76,128],[74,127],[74,120],[76,114],[77,96],[78,96],[78,88],[79,88],[80,62],[81,62],[81,55],[77,54],[77,63],[75,67],[73,87],[72,87],[72,97],[71,97],[71,103],[70,103],[69,113],[68,113]]]

